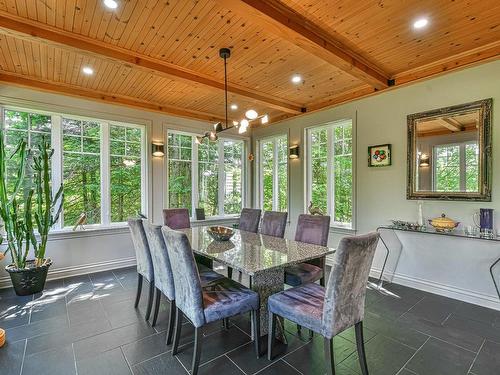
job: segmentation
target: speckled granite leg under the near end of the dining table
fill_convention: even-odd
[[[267,300],[275,293],[284,290],[283,280],[285,271],[283,268],[274,268],[264,272],[259,272],[252,276],[251,288],[260,296],[260,335],[268,333],[269,312]],[[252,330],[253,332],[253,330]]]

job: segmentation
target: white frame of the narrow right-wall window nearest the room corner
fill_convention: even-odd
[[[257,140],[257,181],[256,181],[256,201],[257,207],[264,209],[264,168],[263,168],[263,158],[262,158],[262,148],[264,143],[272,141],[273,142],[273,204],[272,210],[278,211],[279,207],[279,179],[278,179],[278,168],[279,168],[279,157],[278,157],[278,139],[285,138],[285,143],[287,145],[287,155],[286,155],[286,170],[287,170],[287,212],[290,210],[290,163],[288,158],[289,150],[289,136],[288,133],[278,133]]]

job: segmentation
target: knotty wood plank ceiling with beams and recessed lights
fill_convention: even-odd
[[[230,118],[273,122],[500,55],[497,0],[117,2],[0,0],[0,82],[215,121],[229,47]]]

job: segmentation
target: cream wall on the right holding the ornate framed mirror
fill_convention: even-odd
[[[411,113],[493,98],[493,195],[492,202],[426,201],[424,215],[433,218],[445,212],[449,217],[472,224],[480,207],[496,211],[500,231],[500,61],[447,74],[429,81],[394,89],[279,124],[256,129],[253,144],[270,134],[288,133],[290,144],[304,144],[304,129],[329,121],[351,118],[356,128],[356,229],[375,230],[390,219],[417,220],[417,203],[406,199],[406,116]],[[392,166],[368,168],[367,148],[391,143]],[[255,148],[254,148],[255,150]],[[304,148],[301,157],[290,160],[289,233],[304,211]],[[255,167],[255,166],[254,166]],[[333,233],[331,245],[345,233]],[[445,237],[399,234],[403,253],[395,281],[500,309],[489,265],[500,257],[500,242],[457,240]],[[382,264],[379,247],[374,274]],[[500,279],[500,277],[499,277]],[[500,282],[500,280],[499,280]]]

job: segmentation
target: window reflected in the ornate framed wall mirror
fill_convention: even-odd
[[[479,191],[479,146],[477,142],[433,147],[434,190]]]

